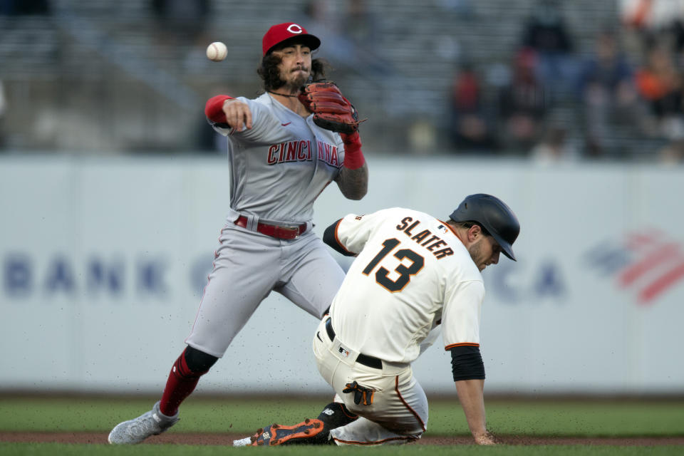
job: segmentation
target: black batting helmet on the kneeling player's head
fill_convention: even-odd
[[[477,222],[501,246],[504,255],[516,261],[512,245],[520,232],[518,218],[501,199],[477,193],[469,195],[449,216],[454,222]]]

